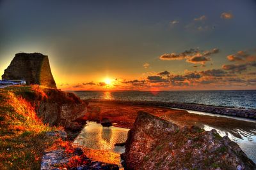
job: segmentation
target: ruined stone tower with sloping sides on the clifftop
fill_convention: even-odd
[[[24,79],[28,85],[38,84],[56,88],[48,56],[42,53],[17,53],[10,66],[4,70],[2,79]]]

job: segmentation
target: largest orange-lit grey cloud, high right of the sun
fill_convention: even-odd
[[[164,53],[159,57],[160,60],[182,60],[187,59],[187,62],[204,64],[205,62],[211,60],[209,56],[218,53],[220,50],[218,48],[213,48],[212,50],[200,52],[198,49],[191,48],[182,53]]]

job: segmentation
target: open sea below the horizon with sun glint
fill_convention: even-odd
[[[163,101],[256,109],[256,90],[74,91],[81,99]]]

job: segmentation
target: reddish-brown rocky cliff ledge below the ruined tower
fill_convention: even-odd
[[[38,117],[50,126],[62,125],[69,128],[72,127],[72,121],[86,114],[87,103],[73,93],[38,85],[17,87],[16,89],[19,91],[19,95],[35,106]]]

